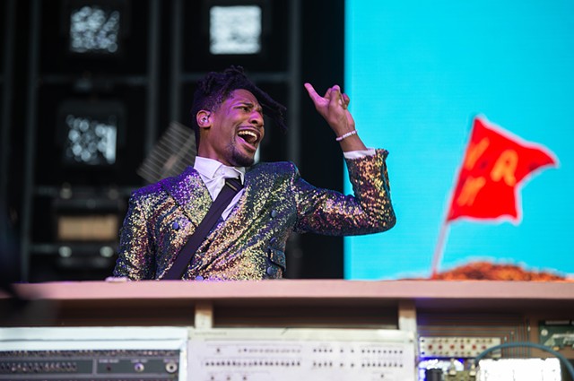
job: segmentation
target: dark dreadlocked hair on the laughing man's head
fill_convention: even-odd
[[[243,67],[231,65],[223,72],[211,72],[197,82],[194,93],[194,103],[191,108],[191,125],[196,131],[196,144],[199,145],[199,126],[196,115],[201,110],[215,110],[223,101],[227,100],[232,91],[244,89],[250,91],[263,108],[263,113],[271,117],[283,132],[287,131],[285,125],[285,108],[281,103],[273,100],[265,91],[259,89],[244,74]]]

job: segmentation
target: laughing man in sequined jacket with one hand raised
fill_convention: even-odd
[[[121,230],[115,276],[164,278],[219,195],[225,178],[243,189],[203,239],[185,280],[281,278],[291,232],[357,235],[395,224],[384,150],[367,150],[347,106],[333,86],[321,97],[306,83],[318,113],[335,132],[354,196],[309,185],[291,162],[254,164],[264,134],[263,114],[284,126],[284,108],[248,80],[242,68],[210,73],[198,83],[192,108],[197,157],[176,178],[135,191]]]

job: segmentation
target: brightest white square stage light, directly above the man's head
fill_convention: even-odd
[[[213,5],[209,10],[209,51],[213,55],[252,55],[261,51],[259,5]]]

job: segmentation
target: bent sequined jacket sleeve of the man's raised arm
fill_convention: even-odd
[[[309,185],[296,171],[292,180],[298,221],[295,231],[334,236],[376,233],[396,223],[390,198],[388,152],[346,160],[353,194],[343,195]]]

